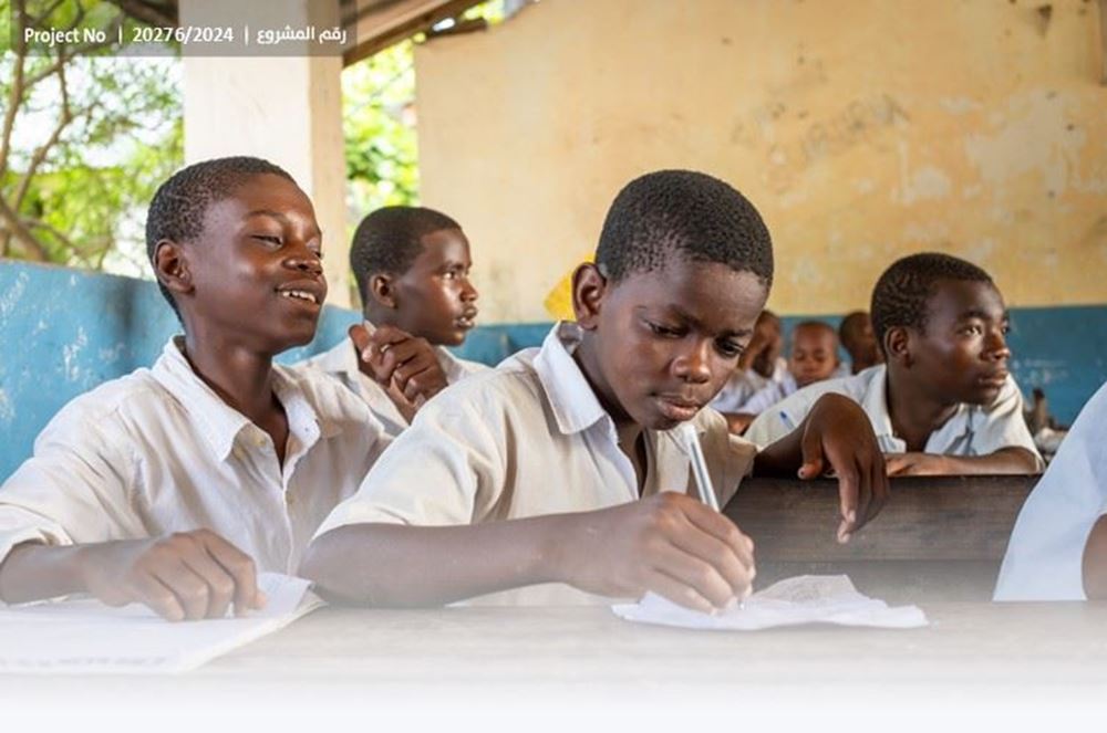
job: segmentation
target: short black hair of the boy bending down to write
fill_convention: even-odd
[[[773,283],[773,242],[757,209],[730,184],[692,170],[635,178],[603,221],[596,263],[619,282],[664,266],[673,255],[718,262]]]

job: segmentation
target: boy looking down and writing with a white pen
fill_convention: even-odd
[[[837,395],[756,453],[703,409],[768,296],[773,252],[727,184],[666,170],[629,184],[594,264],[573,273],[576,323],[420,410],[312,542],[301,573],[332,598],[449,603],[536,584],[516,603],[659,593],[710,610],[749,589],[753,546],[694,486],[691,421],[720,504],[742,477],[840,478],[839,538],[884,501],[865,413]],[[756,454],[755,454],[756,453]]]

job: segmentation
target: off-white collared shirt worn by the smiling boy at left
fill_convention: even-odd
[[[0,562],[28,541],[137,540],[209,528],[259,572],[294,573],[308,541],[390,442],[365,405],[312,369],[273,366],[284,462],[170,341],[151,369],[82,395],[0,486]]]

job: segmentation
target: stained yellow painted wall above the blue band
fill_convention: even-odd
[[[1010,305],[1107,303],[1098,3],[542,0],[416,52],[423,200],[469,233],[484,321],[542,321],[607,206],[661,167],[761,209],[769,304],[868,303],[921,249]]]

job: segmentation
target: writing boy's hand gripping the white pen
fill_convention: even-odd
[[[722,514],[676,492],[573,516],[567,582],[604,596],[645,591],[700,611],[749,595],[753,541]]]

